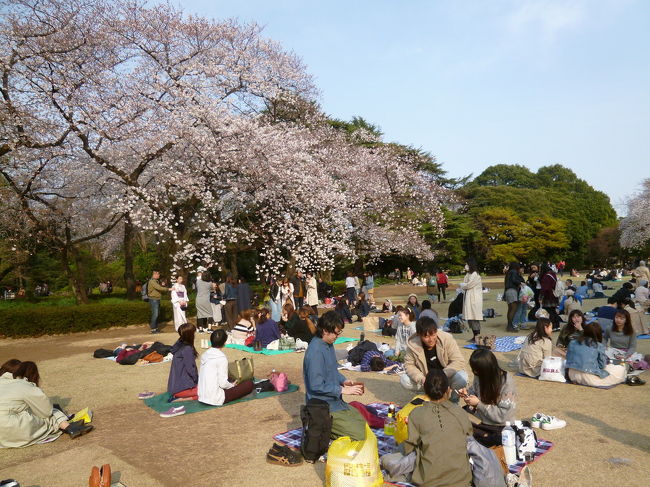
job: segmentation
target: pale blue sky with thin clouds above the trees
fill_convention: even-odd
[[[298,54],[325,112],[451,176],[560,163],[617,211],[650,177],[650,1],[182,0]]]

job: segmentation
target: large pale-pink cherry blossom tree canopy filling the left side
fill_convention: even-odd
[[[5,4],[4,189],[29,231],[63,229],[47,233],[60,248],[114,243],[121,226],[131,295],[137,231],[179,273],[249,249],[260,274],[432,257],[419,229],[442,230],[450,192],[371,127],[333,127],[300,59],[259,26],[126,1]]]

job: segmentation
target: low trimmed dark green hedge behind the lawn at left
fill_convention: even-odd
[[[188,314],[196,315],[196,308],[191,306]],[[159,323],[171,320],[172,316],[171,303],[161,302]],[[144,301],[4,309],[0,312],[0,336],[60,335],[147,323],[149,303]]]

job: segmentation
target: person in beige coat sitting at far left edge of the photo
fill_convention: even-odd
[[[83,422],[68,422],[38,387],[34,362],[11,359],[0,367],[0,448],[21,448],[52,441],[61,433],[76,438],[93,429]]]

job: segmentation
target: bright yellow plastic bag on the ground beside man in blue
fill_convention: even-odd
[[[383,484],[377,437],[368,425],[364,441],[343,436],[332,442],[327,450],[325,487],[381,487]]]

